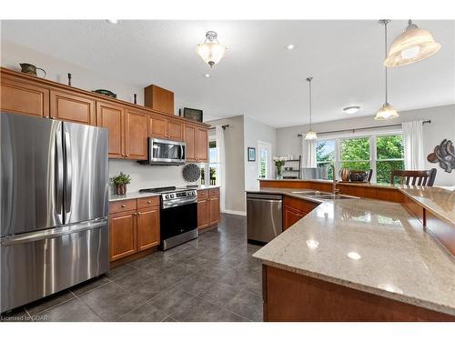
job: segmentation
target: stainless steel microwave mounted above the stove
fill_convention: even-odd
[[[180,141],[148,138],[148,160],[139,161],[147,165],[184,165],[186,162],[187,144]]]

